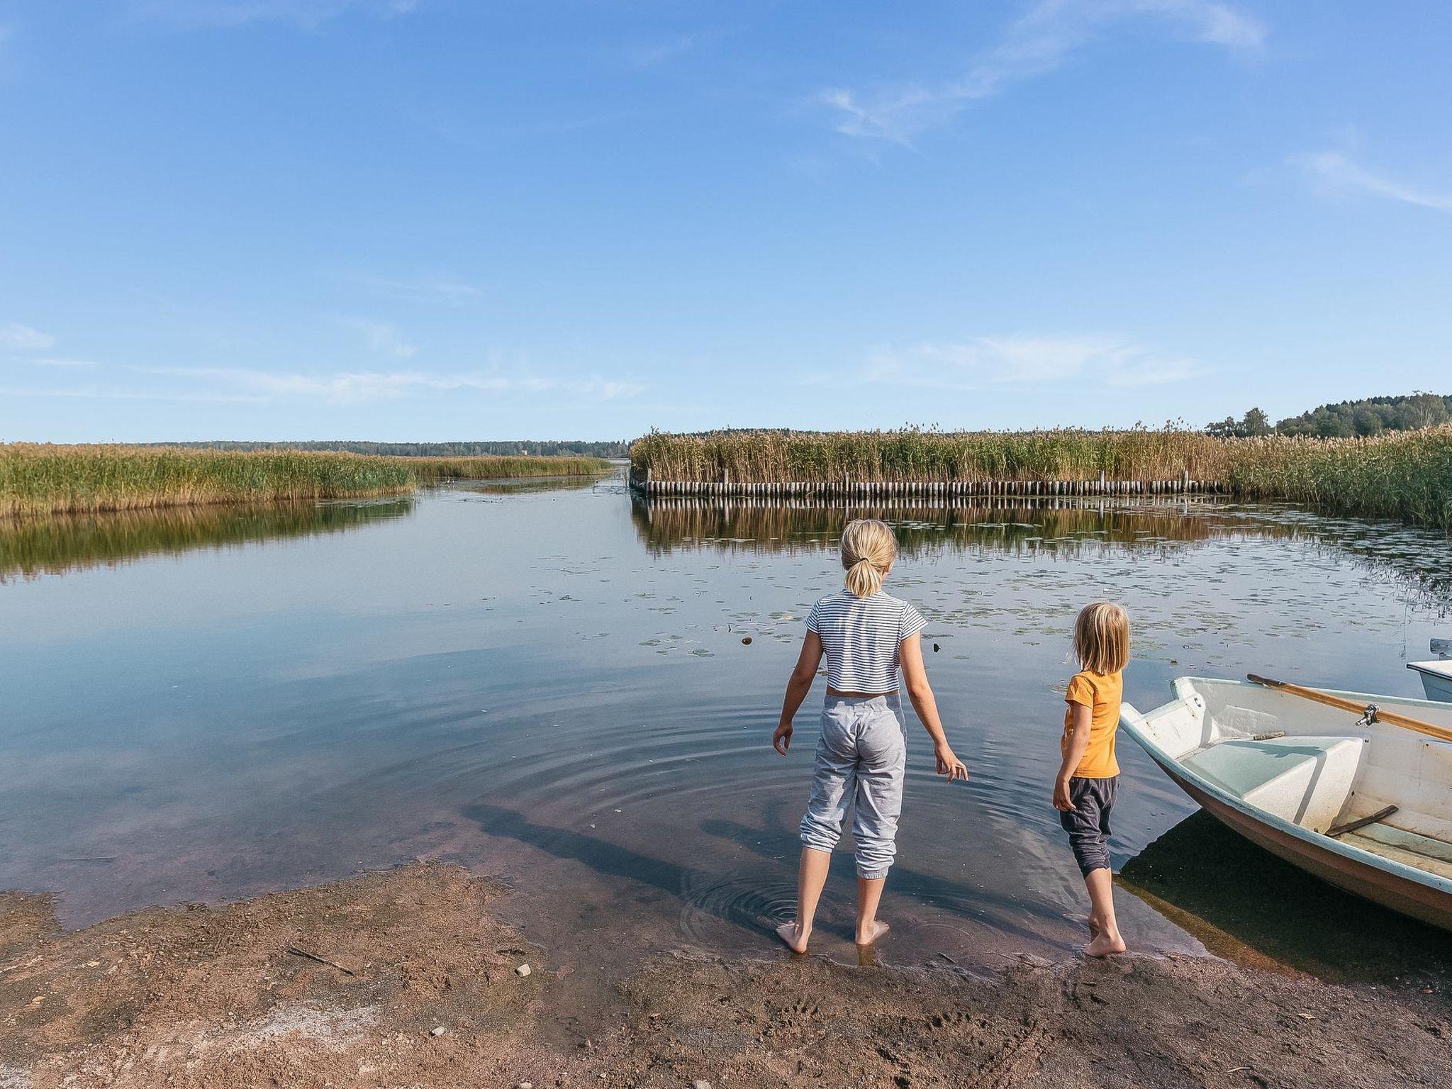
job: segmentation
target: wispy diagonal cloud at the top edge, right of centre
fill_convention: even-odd
[[[1215,0],[1037,0],[955,80],[865,94],[833,87],[817,100],[836,110],[836,131],[844,135],[910,144],[970,103],[1053,71],[1109,25],[1134,17],[1156,19],[1182,39],[1233,49],[1259,48],[1266,35],[1256,19]]]

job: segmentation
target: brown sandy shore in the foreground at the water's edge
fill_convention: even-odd
[[[61,934],[46,897],[0,896],[0,1089],[1452,1083],[1437,995],[1208,958],[976,974],[764,947],[642,951],[601,996],[498,897],[411,865]]]

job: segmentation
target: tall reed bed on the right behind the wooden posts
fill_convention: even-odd
[[[653,431],[632,466],[658,481],[1192,481],[1246,498],[1452,530],[1452,427],[1375,439],[1214,439],[1105,431]]]

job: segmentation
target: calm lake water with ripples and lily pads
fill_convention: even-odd
[[[929,620],[973,775],[938,781],[910,719],[896,963],[1083,941],[1048,804],[1083,603],[1131,610],[1140,707],[1176,675],[1247,671],[1419,696],[1404,664],[1452,626],[1446,537],[1398,526],[1183,499],[864,513],[899,530],[889,590]],[[565,935],[591,931],[578,970],[768,950],[820,691],[788,758],[770,738],[802,619],[841,584],[845,517],[645,505],[613,479],[0,529],[0,889],[57,892],[81,925],[439,858],[498,874],[566,961]],[[1186,822],[1192,803],[1121,754],[1133,944],[1446,979],[1443,935]],[[820,948],[849,958],[845,854],[833,873]]]

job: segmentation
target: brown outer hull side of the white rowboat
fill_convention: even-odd
[[[1331,851],[1327,847],[1318,845],[1314,839],[1292,835],[1269,825],[1255,815],[1201,790],[1179,774],[1173,762],[1166,762],[1153,752],[1150,756],[1201,809],[1233,832],[1239,832],[1252,844],[1353,896],[1361,896],[1401,915],[1410,915],[1422,922],[1452,931],[1452,899],[1446,893],[1363,862],[1353,855]]]

